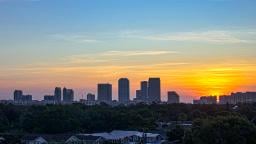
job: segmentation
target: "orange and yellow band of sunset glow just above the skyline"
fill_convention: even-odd
[[[200,69],[199,69],[200,67]],[[77,96],[85,92],[95,92],[96,84],[109,82],[113,84],[113,96],[117,96],[117,80],[120,77],[128,77],[131,83],[131,96],[134,96],[142,80],[148,77],[160,77],[162,96],[166,99],[167,91],[177,91],[184,99],[193,99],[200,96],[230,94],[235,91],[248,91],[254,86],[255,68],[253,65],[235,66],[177,66],[168,69],[164,66],[101,66],[101,67],[54,67],[54,68],[30,68],[19,70],[23,79],[9,79],[2,81],[6,89],[20,88],[24,90],[38,91],[49,89],[51,92],[55,86],[67,86],[73,88]],[[17,71],[15,72],[17,73]],[[8,73],[11,75],[11,73]],[[0,83],[1,84],[1,83]],[[30,93],[30,91],[28,91]],[[33,94],[33,93],[32,93]]]

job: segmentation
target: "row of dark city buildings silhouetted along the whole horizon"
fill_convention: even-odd
[[[112,84],[111,83],[98,83],[97,93],[84,92],[82,97],[75,99],[75,92],[73,89],[55,87],[54,95],[44,95],[41,104],[72,104],[72,103],[84,103],[88,105],[100,104],[104,102],[107,104],[134,104],[134,103],[187,103],[186,101],[180,101],[180,96],[176,91],[168,90],[167,99],[163,99],[161,95],[161,79],[157,77],[149,77],[148,81],[141,81],[140,89],[135,91],[135,96],[130,96],[130,81],[128,78],[118,79],[118,97],[115,99],[112,95]],[[228,103],[252,103],[255,101],[255,91],[246,92],[232,92],[230,95],[208,95],[198,96],[200,99],[193,99],[193,104],[220,104]],[[97,96],[97,98],[96,98]],[[233,98],[231,98],[231,97]],[[23,94],[23,90],[15,89],[13,92],[13,99],[0,99],[2,102],[14,102],[17,104],[35,104],[39,102],[38,99],[33,99],[30,94]],[[9,101],[11,100],[11,101]],[[14,100],[14,101],[13,101]],[[86,103],[88,102],[88,103]],[[191,102],[188,102],[191,103]]]

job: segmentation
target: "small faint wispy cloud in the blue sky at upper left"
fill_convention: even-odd
[[[52,38],[57,40],[70,41],[75,43],[95,43],[99,42],[97,39],[90,38],[89,36],[84,35],[64,35],[64,34],[53,34]]]

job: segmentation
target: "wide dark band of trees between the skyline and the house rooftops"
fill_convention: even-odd
[[[102,132],[114,129],[150,131],[156,122],[192,121],[218,116],[243,116],[254,121],[256,105],[239,105],[232,111],[225,105],[108,105],[85,106],[0,105],[0,132],[70,133]],[[177,132],[178,133],[178,132]]]

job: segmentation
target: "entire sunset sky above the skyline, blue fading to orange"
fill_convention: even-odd
[[[0,99],[160,77],[181,101],[256,91],[255,0],[0,0]]]

